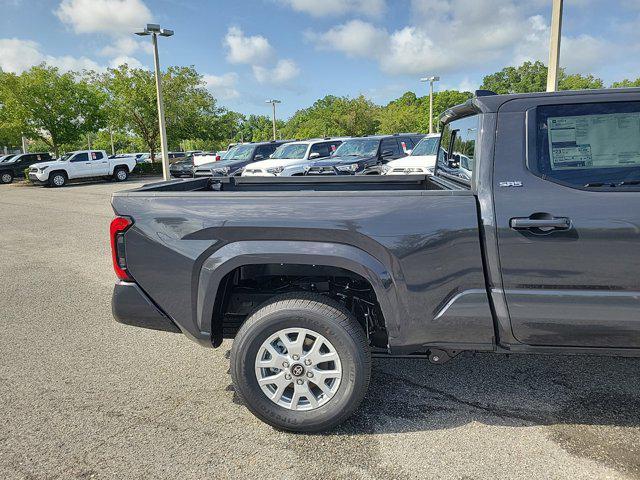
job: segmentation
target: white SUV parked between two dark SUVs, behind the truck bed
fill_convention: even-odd
[[[304,175],[316,160],[330,157],[345,138],[314,138],[280,145],[266,160],[250,163],[243,177],[291,177]]]

